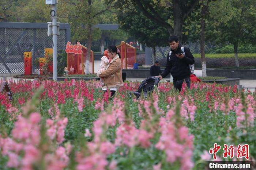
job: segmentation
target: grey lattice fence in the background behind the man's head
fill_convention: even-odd
[[[184,47],[188,47],[191,51],[192,54],[194,53],[200,53],[200,42],[197,41],[195,43],[188,43],[188,44],[184,44],[182,45]],[[215,45],[207,42],[205,44],[205,51],[207,52],[208,50],[211,50],[212,48],[214,48]],[[151,58],[150,58],[150,63],[148,64],[154,64],[154,53],[153,53],[153,49],[151,48]],[[165,62],[166,61],[166,56],[167,54],[170,52],[171,47],[170,46],[166,46],[166,47],[155,47],[155,60],[157,61],[162,61]]]

